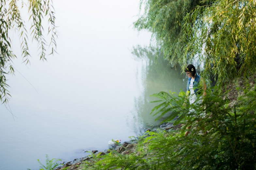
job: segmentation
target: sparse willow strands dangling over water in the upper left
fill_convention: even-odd
[[[6,75],[14,72],[13,59],[22,57],[24,63],[28,63],[30,56],[28,42],[32,40],[38,44],[40,59],[45,60],[48,48],[51,50],[50,54],[53,54],[56,49],[57,34],[51,0],[1,0],[0,3],[0,101],[6,103],[10,96]],[[25,7],[27,9],[24,9]],[[29,25],[28,21],[23,20],[22,13],[24,12],[21,12],[22,10],[27,10]],[[48,21],[46,31],[42,24],[44,20]],[[29,26],[29,31],[26,26]],[[20,56],[16,56],[12,51],[12,42],[9,36],[12,32],[16,32],[19,36],[22,51]],[[46,40],[49,34],[51,38]]]

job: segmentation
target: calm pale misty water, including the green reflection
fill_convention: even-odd
[[[17,59],[15,76],[8,76],[12,98],[8,108],[0,105],[1,170],[38,169],[45,154],[69,161],[106,149],[111,139],[127,141],[159,124],[149,115],[151,94],[186,86],[179,68],[155,62],[150,49],[134,52],[151,37],[133,30],[139,0],[56,0],[54,7],[58,54],[42,62],[32,48],[31,65]],[[19,45],[14,38],[17,55]]]

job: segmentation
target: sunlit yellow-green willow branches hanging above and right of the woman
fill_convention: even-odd
[[[218,83],[256,73],[256,1],[205,0],[186,16],[183,58],[198,55]]]

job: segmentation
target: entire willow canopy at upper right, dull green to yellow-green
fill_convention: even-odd
[[[218,85],[256,72],[255,0],[141,0],[135,27],[153,33],[172,65],[198,58]]]

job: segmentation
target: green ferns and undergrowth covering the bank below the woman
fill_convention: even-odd
[[[153,112],[165,112],[173,108],[166,117],[170,120],[177,114],[174,123],[185,123],[181,128],[167,131],[146,132],[137,139],[136,149],[129,154],[116,151],[98,158],[88,169],[255,169],[256,168],[256,86],[237,89],[241,95],[231,105],[227,93],[208,89],[202,106],[192,105],[194,111],[185,106],[179,95],[160,92],[160,106]],[[169,101],[169,105],[167,105]],[[162,103],[164,103],[162,105]],[[171,109],[170,109],[171,110]],[[166,113],[168,114],[168,113]],[[180,118],[181,117],[181,118]],[[191,126],[186,129],[186,126]],[[189,131],[188,136],[184,133]],[[206,133],[207,132],[207,133]]]

